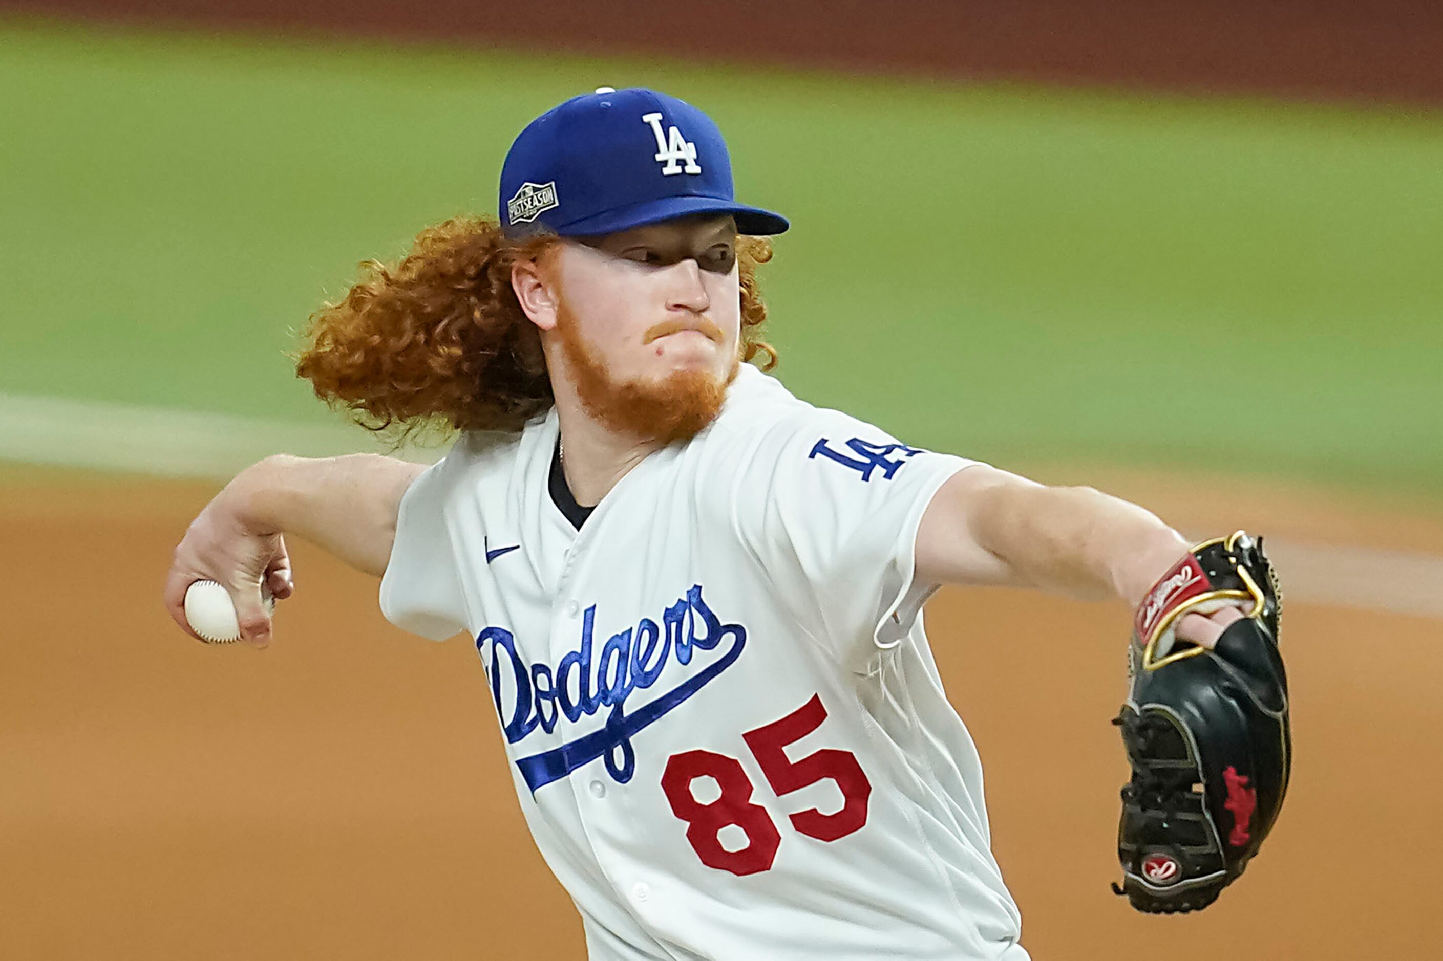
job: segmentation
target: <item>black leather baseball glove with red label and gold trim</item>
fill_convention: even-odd
[[[1212,651],[1177,641],[1183,613],[1248,606]],[[1277,651],[1273,566],[1238,531],[1199,544],[1143,599],[1128,648],[1117,857],[1133,908],[1198,910],[1216,900],[1273,828],[1291,759],[1287,678]]]

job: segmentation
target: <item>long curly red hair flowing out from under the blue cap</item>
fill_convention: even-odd
[[[394,264],[365,261],[346,296],[312,315],[296,374],[316,397],[395,440],[447,430],[519,430],[554,403],[541,338],[511,289],[511,267],[556,237],[506,240],[495,218],[421,231]],[[771,242],[737,238],[743,361],[772,369],[756,266]]]

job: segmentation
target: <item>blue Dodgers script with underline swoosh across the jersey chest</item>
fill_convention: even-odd
[[[595,623],[596,605],[592,605],[582,618],[582,642],[563,655],[556,668],[527,664],[517,651],[515,635],[505,628],[486,628],[476,635],[476,651],[483,662],[486,642],[491,642],[491,694],[496,698],[508,743],[525,740],[537,727],[550,734],[561,719],[574,724],[583,716],[609,708],[606,723],[597,730],[517,759],[532,792],[597,758],[606,759],[606,772],[618,784],[631,781],[636,771],[632,737],[732,667],[746,646],[746,628],[722,623],[701,599],[701,584],[694,584],[667,607],[659,625],[642,618],[635,628],[608,638],[593,667]],[[720,655],[672,687],[662,683],[672,661],[691,664],[697,651],[720,651]],[[632,694],[652,687],[662,693],[628,713]]]

